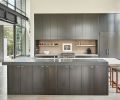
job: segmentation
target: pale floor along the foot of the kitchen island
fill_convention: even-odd
[[[8,95],[1,96],[0,100],[120,100],[120,93],[110,87],[107,96],[81,95]]]

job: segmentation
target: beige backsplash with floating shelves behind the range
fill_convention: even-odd
[[[63,44],[72,43],[72,52],[85,54],[87,48],[91,49],[92,54],[97,54],[97,40],[36,40],[36,54],[60,54],[63,52]]]

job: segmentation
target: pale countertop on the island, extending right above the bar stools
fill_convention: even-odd
[[[6,59],[2,64],[14,63],[14,62],[62,62],[62,61],[71,61],[71,60],[105,60],[110,66],[120,66],[120,60],[117,58],[31,58],[31,57],[18,57],[16,59]]]

